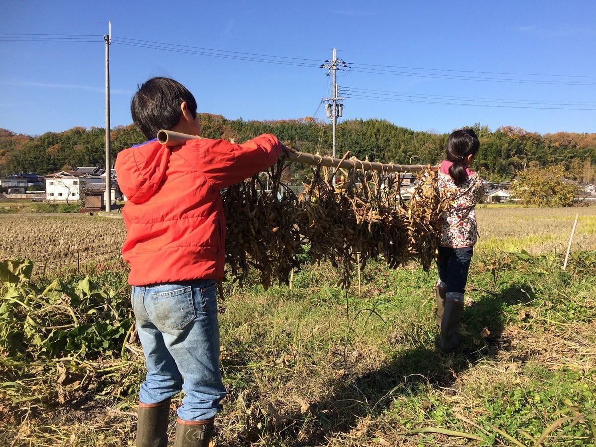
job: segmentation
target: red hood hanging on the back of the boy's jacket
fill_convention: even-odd
[[[128,200],[142,203],[162,185],[170,150],[157,139],[120,151],[116,157],[118,185]]]

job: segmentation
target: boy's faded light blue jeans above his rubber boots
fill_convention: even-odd
[[[147,368],[139,401],[162,402],[184,390],[178,417],[212,418],[226,394],[219,373],[215,281],[134,286],[132,310]]]

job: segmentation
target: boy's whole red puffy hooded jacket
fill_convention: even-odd
[[[272,166],[280,152],[271,134],[244,144],[203,138],[167,147],[152,140],[121,151],[116,173],[128,198],[128,283],[221,279],[226,224],[219,191]]]

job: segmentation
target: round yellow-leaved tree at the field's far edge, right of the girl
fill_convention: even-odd
[[[513,194],[527,205],[572,206],[578,186],[563,178],[561,166],[546,169],[532,167],[519,172],[513,182]]]

